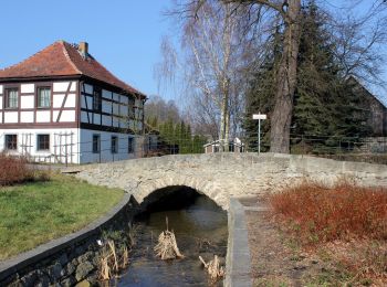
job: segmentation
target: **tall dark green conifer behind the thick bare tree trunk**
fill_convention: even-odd
[[[276,55],[281,51],[279,46],[281,41],[275,41],[279,38],[281,33],[276,31],[272,51],[255,72],[247,94],[244,128],[248,134],[257,135],[257,123],[251,120],[252,114],[263,111],[269,115],[269,120],[265,120],[263,126],[263,145],[269,144],[265,139],[269,138],[270,115],[273,107]],[[297,145],[305,144],[300,141],[302,137],[315,138],[307,145],[313,152],[322,152],[327,146],[337,145],[337,140],[332,140],[332,137],[338,139],[366,136],[365,115],[358,108],[360,95],[354,93],[352,85],[342,76],[343,68],[335,59],[335,44],[326,29],[326,15],[314,0],[302,8],[297,63],[291,128],[293,150]],[[255,146],[254,141],[252,144]]]

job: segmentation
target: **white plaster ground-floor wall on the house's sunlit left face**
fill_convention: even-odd
[[[65,149],[60,149],[60,134],[67,134],[62,136],[62,145],[67,146],[67,162],[79,163],[79,129],[76,128],[55,128],[55,129],[0,129],[0,151],[4,150],[6,137],[4,135],[18,135],[18,150],[9,151],[13,155],[25,155],[34,157],[36,161],[57,162],[62,160],[65,162]],[[72,134],[72,135],[71,135]],[[38,135],[50,135],[50,150],[36,150]],[[67,141],[66,141],[67,140]],[[71,142],[74,145],[71,146]],[[24,147],[23,147],[24,146]],[[55,147],[56,146],[56,147]],[[62,152],[61,152],[62,151]],[[56,157],[54,155],[56,153]],[[55,161],[56,158],[56,161]]]

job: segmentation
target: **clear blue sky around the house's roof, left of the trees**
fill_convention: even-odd
[[[145,94],[155,95],[158,91],[154,65],[160,61],[160,40],[178,32],[171,30],[172,25],[161,13],[170,1],[4,0],[0,17],[0,68],[57,40],[86,41],[91,54],[111,72]],[[367,1],[370,0],[364,3]],[[325,3],[348,3],[348,0],[325,0]],[[172,98],[172,94],[161,96]]]

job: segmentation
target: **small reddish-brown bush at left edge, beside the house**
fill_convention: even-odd
[[[33,180],[33,171],[27,166],[24,158],[0,153],[0,185],[10,185]]]

